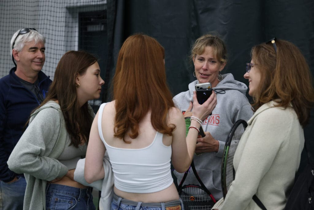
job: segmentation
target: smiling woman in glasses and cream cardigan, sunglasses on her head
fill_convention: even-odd
[[[236,171],[225,201],[213,209],[283,209],[299,168],[303,128],[314,103],[311,73],[300,50],[273,39],[251,51],[244,77],[255,113],[236,150]]]

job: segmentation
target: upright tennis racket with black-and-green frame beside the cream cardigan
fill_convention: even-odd
[[[221,187],[224,198],[226,197],[227,191],[235,178],[233,156],[246,127],[247,123],[245,120],[238,120],[232,126],[225,143],[224,155],[221,164]]]

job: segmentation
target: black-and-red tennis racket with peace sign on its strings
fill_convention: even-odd
[[[210,210],[216,200],[210,191],[205,187],[202,180],[199,178],[194,162],[191,163],[192,171],[198,180],[199,184],[186,184],[183,185],[187,178],[189,169],[184,173],[184,176],[177,188],[180,198],[183,201],[185,210]]]

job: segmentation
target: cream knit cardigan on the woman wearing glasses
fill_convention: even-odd
[[[248,121],[236,150],[236,171],[225,201],[213,209],[258,209],[254,194],[267,209],[283,209],[293,186],[304,146],[303,128],[290,106],[262,105]]]

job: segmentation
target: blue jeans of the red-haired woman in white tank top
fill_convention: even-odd
[[[113,195],[111,210],[184,210],[181,199],[165,203],[142,203]]]

